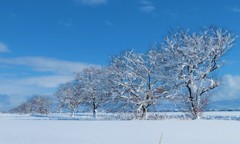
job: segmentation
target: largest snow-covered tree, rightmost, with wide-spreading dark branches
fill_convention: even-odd
[[[214,72],[220,68],[221,58],[234,40],[234,35],[228,31],[208,28],[199,33],[180,30],[159,45],[158,61],[165,63],[170,81],[175,81],[173,96],[183,98],[193,119],[201,116],[211,90],[219,85]]]

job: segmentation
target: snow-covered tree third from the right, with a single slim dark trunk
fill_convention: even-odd
[[[105,68],[90,67],[76,73],[76,81],[83,84],[84,102],[92,108],[96,118],[97,109],[110,98],[110,85]]]

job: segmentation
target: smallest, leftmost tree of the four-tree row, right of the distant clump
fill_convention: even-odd
[[[59,104],[60,113],[64,107],[67,107],[71,111],[72,116],[74,116],[76,109],[83,101],[83,95],[84,93],[82,83],[72,81],[60,85],[54,94]]]

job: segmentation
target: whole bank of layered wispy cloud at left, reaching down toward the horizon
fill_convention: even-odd
[[[74,79],[74,72],[93,64],[47,57],[0,58],[0,94],[12,97],[12,105],[34,94],[52,94],[59,84]]]

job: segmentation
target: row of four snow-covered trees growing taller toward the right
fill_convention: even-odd
[[[219,86],[216,70],[235,39],[219,28],[179,30],[146,53],[124,51],[113,56],[108,66],[86,68],[76,72],[73,81],[61,84],[54,93],[59,111],[69,109],[74,115],[81,104],[87,104],[95,118],[99,107],[115,105],[147,119],[149,108],[167,99],[181,103],[192,119],[200,118],[212,90]]]

